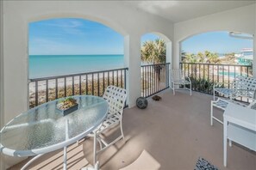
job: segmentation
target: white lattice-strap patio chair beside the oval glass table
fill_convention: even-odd
[[[122,112],[123,108],[125,106],[125,101],[127,98],[127,92],[123,88],[117,88],[115,86],[109,86],[106,88],[103,99],[107,100],[109,103],[109,112],[107,115],[107,118],[104,119],[103,124],[101,124],[97,130],[93,131],[94,136],[94,164],[97,160],[97,155],[101,153],[103,150],[107,149],[109,146],[115,144],[120,139],[124,140],[124,135],[122,131]],[[103,132],[108,131],[111,128],[116,127],[119,125],[121,136],[117,137],[115,140],[113,140],[110,143],[107,143],[104,140]],[[100,145],[100,149],[97,150],[97,142]]]

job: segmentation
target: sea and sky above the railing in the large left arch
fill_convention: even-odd
[[[58,18],[30,22],[28,28],[30,79],[124,65],[122,35],[99,22]]]

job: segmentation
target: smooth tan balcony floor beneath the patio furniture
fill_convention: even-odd
[[[228,147],[228,167],[223,167],[222,124],[209,124],[211,95],[193,92],[190,96],[186,91],[172,95],[169,89],[159,95],[162,100],[149,98],[145,110],[125,109],[123,127],[127,142],[121,140],[100,155],[101,169],[126,167],[143,149],[159,162],[160,169],[193,169],[199,156],[222,170],[255,169],[255,152],[235,143]],[[222,117],[220,110],[214,112]],[[62,149],[43,155],[29,168],[61,169],[62,155]],[[70,146],[67,158],[69,169],[87,166],[92,162],[92,140]],[[26,161],[11,169],[22,167]]]

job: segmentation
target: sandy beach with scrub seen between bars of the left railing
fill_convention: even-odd
[[[55,100],[56,98],[65,97],[74,94],[94,94],[94,95],[103,95],[103,87],[107,87],[109,85],[119,85],[124,87],[124,73],[119,71],[118,76],[117,73],[109,72],[108,73],[99,73],[86,76],[69,76],[66,77],[66,92],[65,92],[65,78],[58,78],[57,85],[56,79],[51,79],[43,81],[38,81],[38,102],[42,104],[47,101],[47,88],[48,88],[48,100]],[[104,77],[104,81],[103,81]],[[109,79],[108,79],[109,77]],[[81,82],[80,82],[81,79]],[[114,83],[113,83],[114,82]],[[72,84],[74,84],[72,86]],[[47,87],[48,86],[48,87]],[[56,87],[58,88],[58,97],[56,97]],[[74,89],[72,89],[74,87]],[[92,89],[93,88],[93,89]],[[81,89],[81,91],[80,91]],[[30,108],[35,106],[35,82],[29,83],[29,106]]]

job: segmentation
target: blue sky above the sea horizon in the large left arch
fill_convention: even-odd
[[[95,21],[36,21],[29,24],[29,54],[123,54],[123,37]]]

